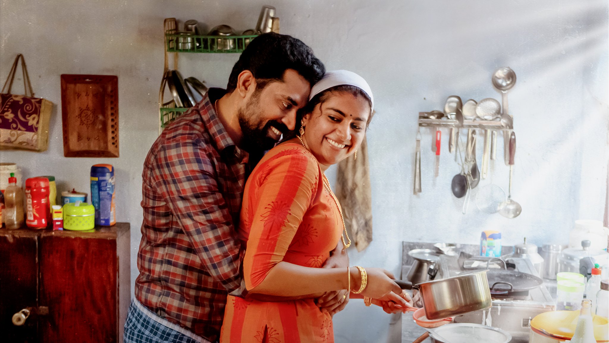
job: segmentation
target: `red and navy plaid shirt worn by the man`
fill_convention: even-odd
[[[215,341],[239,288],[239,223],[248,154],[228,136],[212,88],[174,121],[144,162],[135,296],[169,322]],[[211,95],[211,99],[210,99]]]

